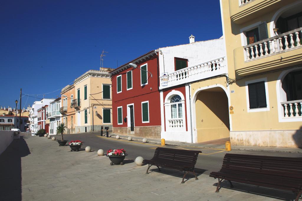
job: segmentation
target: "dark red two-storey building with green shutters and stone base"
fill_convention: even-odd
[[[110,72],[113,133],[160,139],[158,68],[153,50]]]

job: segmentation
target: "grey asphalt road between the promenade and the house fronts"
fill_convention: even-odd
[[[110,134],[109,134],[110,136]],[[56,136],[61,139],[60,136]],[[90,146],[95,152],[98,149],[103,149],[104,152],[108,149],[125,149],[127,152],[127,159],[134,160],[137,156],[142,156],[144,159],[151,159],[154,155],[156,147],[160,144],[156,143],[142,143],[141,141],[133,140],[129,142],[127,139],[117,140],[115,137],[100,137],[100,133],[80,133],[64,135],[64,140],[81,140],[83,142],[82,148]],[[68,143],[67,143],[68,145]],[[67,146],[66,145],[66,146]],[[204,174],[210,174],[211,171],[219,171],[222,165],[223,156],[226,151],[224,149],[210,149],[210,148],[197,148],[186,146],[172,146],[166,147],[175,149],[191,149],[200,150],[201,154],[198,156],[198,161],[195,168]],[[286,152],[266,152],[266,151],[248,151],[248,150],[235,150],[228,153],[249,154],[249,155],[271,155],[271,156],[285,156],[285,157],[302,157],[301,153],[286,153]],[[95,153],[97,154],[97,153]],[[109,163],[109,160],[108,160]],[[197,170],[198,171],[198,170]]]

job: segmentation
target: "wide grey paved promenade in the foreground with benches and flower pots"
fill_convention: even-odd
[[[28,147],[27,147],[28,146]],[[89,146],[88,144],[84,144]],[[127,151],[127,150],[126,150]],[[153,150],[152,150],[153,151]],[[138,153],[139,155],[139,153]],[[202,160],[199,156],[198,160]],[[71,152],[46,137],[24,137],[15,140],[0,155],[0,200],[289,200],[293,193],[234,182],[222,182],[215,193],[217,179],[202,174],[199,180],[189,175],[180,184],[182,173],[157,168],[145,174],[146,166],[132,160],[125,165],[109,165],[97,150]],[[5,164],[5,165],[4,165]],[[247,193],[249,192],[249,193]]]

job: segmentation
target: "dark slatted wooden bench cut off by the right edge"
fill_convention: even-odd
[[[219,172],[211,172],[210,177],[218,178],[216,193],[222,180],[252,184],[256,186],[288,190],[297,193],[298,201],[302,193],[302,158],[229,154],[223,158]]]

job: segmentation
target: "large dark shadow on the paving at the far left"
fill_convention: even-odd
[[[0,200],[22,200],[21,157],[31,154],[24,138],[13,140],[0,155]]]

